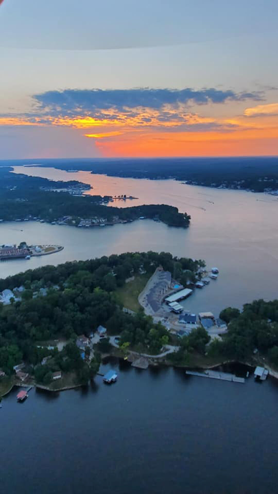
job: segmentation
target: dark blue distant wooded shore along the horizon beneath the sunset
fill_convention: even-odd
[[[263,192],[267,188],[278,188],[277,157],[40,160],[40,163],[42,166],[53,166],[63,170],[74,167],[77,170],[119,177],[175,178],[215,187],[225,183],[226,187],[257,192]],[[14,161],[10,164],[30,164],[30,160]],[[267,180],[261,181],[265,177]]]

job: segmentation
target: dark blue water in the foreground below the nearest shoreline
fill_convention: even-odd
[[[128,367],[111,386],[16,392],[0,410],[2,493],[277,493],[277,381]]]

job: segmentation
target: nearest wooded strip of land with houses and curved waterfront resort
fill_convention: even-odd
[[[140,368],[244,362],[278,377],[278,300],[257,300],[242,312],[226,308],[219,320],[208,312],[194,321],[186,311],[175,315],[169,293],[179,298],[182,286],[198,289],[205,271],[203,260],[150,251],[44,266],[0,280],[0,394],[14,384],[53,391],[86,384],[105,355]],[[153,314],[140,306],[146,292]]]

